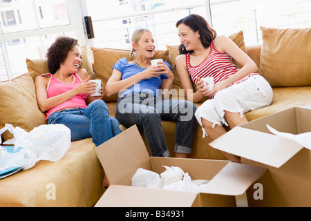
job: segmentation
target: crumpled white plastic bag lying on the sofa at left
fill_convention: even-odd
[[[5,145],[14,145],[14,153],[5,153],[1,148],[0,171],[8,169],[8,166],[22,166],[23,171],[31,169],[40,160],[57,162],[68,151],[71,143],[70,129],[64,124],[45,124],[34,128],[30,132],[22,128],[14,128],[12,124],[6,124],[0,130],[10,131],[14,135],[12,140],[3,142]],[[17,151],[18,148],[21,148]],[[21,165],[22,164],[22,165]]]

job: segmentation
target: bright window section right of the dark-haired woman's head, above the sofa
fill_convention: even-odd
[[[213,27],[219,35],[243,30],[245,44],[261,44],[260,26],[310,28],[310,0],[210,0]]]

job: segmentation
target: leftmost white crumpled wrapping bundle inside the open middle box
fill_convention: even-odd
[[[132,186],[161,189],[160,175],[153,171],[140,168],[132,177]]]

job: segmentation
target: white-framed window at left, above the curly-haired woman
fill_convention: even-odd
[[[76,0],[0,1],[0,81],[26,73],[26,58],[45,58],[46,49],[55,37],[77,38],[81,32],[84,35],[82,23],[81,26],[70,23],[73,17],[67,8],[70,2],[77,3]]]

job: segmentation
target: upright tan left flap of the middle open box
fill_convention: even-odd
[[[95,151],[111,184],[149,160],[149,153],[137,126],[113,137],[95,148]]]

